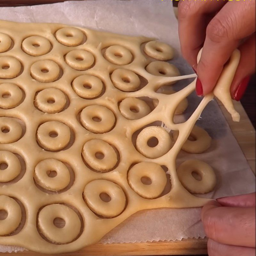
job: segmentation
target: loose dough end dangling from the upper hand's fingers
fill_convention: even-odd
[[[202,50],[203,48],[198,52],[197,63],[201,58]],[[239,64],[239,60],[240,60],[240,51],[236,49],[232,53],[228,64],[225,65],[225,67],[223,68],[222,73],[220,74],[217,84],[213,90],[214,96],[217,97],[222,102],[224,107],[231,114],[232,120],[234,122],[240,121],[240,115],[235,110],[234,105],[232,103],[232,99],[230,95],[230,85],[235,76],[236,68]]]

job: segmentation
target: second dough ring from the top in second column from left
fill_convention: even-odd
[[[32,64],[30,74],[39,82],[50,83],[60,76],[60,67],[52,60],[38,60]]]

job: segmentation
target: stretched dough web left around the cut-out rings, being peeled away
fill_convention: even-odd
[[[26,96],[20,105],[15,108],[0,108],[1,117],[19,118],[26,126],[25,134],[23,134],[18,141],[10,144],[0,144],[1,150],[19,154],[26,163],[26,172],[22,179],[16,183],[8,184],[8,186],[0,187],[0,195],[17,198],[24,205],[26,222],[21,231],[15,236],[0,236],[0,244],[18,245],[42,253],[76,251],[84,246],[98,242],[100,238],[111,229],[139,210],[163,207],[199,207],[208,202],[210,199],[196,197],[190,194],[181,185],[176,173],[175,160],[182,144],[188,139],[189,133],[204,107],[212,100],[213,94],[204,97],[188,121],[183,124],[174,124],[172,118],[176,108],[175,106],[177,106],[180,100],[194,91],[195,81],[181,91],[171,95],[156,93],[156,90],[164,84],[196,77],[196,75],[165,77],[149,74],[145,70],[145,67],[152,59],[141,52],[140,46],[143,43],[155,40],[154,38],[123,36],[77,27],[74,32],[76,36],[74,44],[79,45],[73,47],[66,46],[72,43],[70,43],[70,41],[62,41],[65,43],[65,45],[63,45],[56,40],[56,31],[61,28],[67,28],[68,33],[73,33],[72,28],[62,24],[26,24],[0,20],[0,32],[9,35],[14,42],[12,49],[0,53],[0,57],[14,57],[20,61],[22,66],[20,75],[13,79],[1,78],[0,72],[0,84],[17,84],[24,91]],[[80,32],[77,32],[77,29],[80,32],[82,31],[83,38]],[[50,41],[52,49],[41,56],[28,55],[21,50],[21,45],[23,40],[29,36],[42,36],[46,38]],[[70,37],[69,34],[66,36],[67,38]],[[119,66],[108,62],[104,57],[103,51],[111,45],[121,45],[129,49],[133,58],[131,63]],[[72,50],[91,52],[95,59],[95,65],[84,71],[78,71],[69,67],[64,56]],[[31,78],[30,67],[33,63],[40,60],[52,60],[59,65],[60,76],[56,81],[44,83]],[[117,68],[132,70],[147,79],[148,84],[137,92],[122,92],[118,90],[112,84],[110,78],[110,74]],[[105,88],[104,96],[95,99],[83,99],[79,97],[73,90],[71,84],[76,77],[81,75],[93,75],[100,78]],[[35,95],[37,92],[46,88],[56,88],[67,95],[70,101],[68,108],[56,114],[43,113],[37,109],[34,106]],[[124,118],[119,111],[117,103],[127,97],[138,98],[143,96],[157,99],[159,104],[150,114],[140,119],[128,120]],[[170,105],[171,101],[173,102],[172,105]],[[95,134],[87,131],[79,121],[78,115],[81,110],[94,104],[107,107],[116,117],[115,126],[111,131],[105,134]],[[70,144],[72,145],[70,145],[69,148],[52,152],[38,145],[36,141],[37,129],[41,124],[49,121],[64,123],[74,133],[75,138],[74,141],[71,141]],[[155,121],[163,122],[171,130],[179,130],[180,135],[177,142],[165,155],[156,159],[150,159],[141,155],[136,150],[132,143],[132,135],[140,128]],[[120,154],[120,162],[113,171],[104,173],[94,172],[84,164],[81,155],[82,148],[85,142],[92,139],[104,140],[117,149]],[[74,171],[74,183],[71,188],[63,193],[49,195],[38,189],[34,184],[35,181],[33,177],[36,165],[44,159],[50,158],[67,163]],[[132,164],[139,162],[154,162],[166,166],[172,182],[170,192],[155,199],[145,199],[132,190],[127,181],[127,172]],[[124,191],[126,196],[125,209],[116,217],[102,218],[96,215],[84,200],[83,191],[86,184],[93,180],[100,179],[116,183]],[[71,208],[74,207],[81,214],[82,220],[80,221],[84,228],[74,241],[70,241],[67,244],[56,244],[54,241],[50,243],[38,232],[38,212],[42,207],[53,204],[64,204]]]

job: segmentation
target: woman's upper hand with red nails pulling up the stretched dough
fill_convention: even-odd
[[[241,60],[231,84],[240,100],[255,72],[255,0],[179,1],[179,37],[184,58],[196,70],[196,92],[212,92],[224,64],[238,47]],[[196,56],[204,46],[197,65]]]

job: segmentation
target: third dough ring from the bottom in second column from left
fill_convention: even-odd
[[[68,145],[70,129],[68,125],[57,121],[46,122],[38,127],[37,140],[44,149],[57,151]]]

